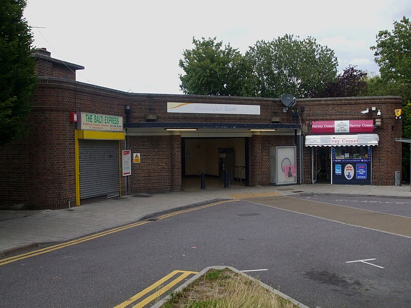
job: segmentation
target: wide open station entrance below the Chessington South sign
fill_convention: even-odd
[[[182,189],[246,186],[248,184],[249,138],[181,138]],[[228,179],[225,179],[227,171]]]

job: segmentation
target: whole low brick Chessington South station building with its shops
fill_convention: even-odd
[[[400,97],[128,93],[77,82],[84,67],[44,49],[33,56],[39,84],[29,136],[0,153],[3,208],[179,191],[202,173],[250,186],[395,185],[401,170]]]

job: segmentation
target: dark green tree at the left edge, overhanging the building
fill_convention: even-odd
[[[30,56],[32,34],[23,10],[24,0],[1,0],[0,5],[0,145],[24,136],[34,92],[35,62]]]

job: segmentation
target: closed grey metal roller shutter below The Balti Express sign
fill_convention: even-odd
[[[80,199],[118,196],[119,143],[79,140]]]

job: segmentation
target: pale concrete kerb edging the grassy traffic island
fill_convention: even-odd
[[[260,286],[266,288],[268,291],[281,296],[282,298],[289,300],[290,302],[292,302],[293,304],[297,305],[298,307],[302,307],[302,308],[309,308],[308,306],[304,305],[301,302],[296,301],[295,299],[289,297],[288,295],[279,292],[278,290],[276,290],[275,288],[269,286],[268,284],[265,284],[264,282],[259,281],[258,279],[255,279],[253,277],[251,277],[250,275],[247,275],[241,271],[239,271],[238,269],[231,267],[231,266],[225,266],[225,265],[214,265],[214,266],[209,266],[204,268],[201,272],[199,272],[198,274],[194,275],[193,277],[191,277],[189,280],[187,280],[185,283],[183,283],[182,285],[180,285],[178,288],[176,288],[176,290],[174,290],[173,292],[180,292],[183,290],[183,288],[187,287],[188,285],[190,285],[192,282],[194,282],[195,280],[197,280],[198,278],[200,278],[202,275],[204,275],[205,273],[207,273],[208,271],[210,271],[210,269],[230,269],[231,271],[233,271],[234,273],[237,273],[247,279],[250,279],[253,282],[257,282]],[[170,300],[170,295],[165,296],[163,299],[161,299],[160,301],[158,301],[156,304],[154,304],[152,306],[152,308],[160,308],[161,305],[163,305],[164,303],[166,303],[168,300]]]

